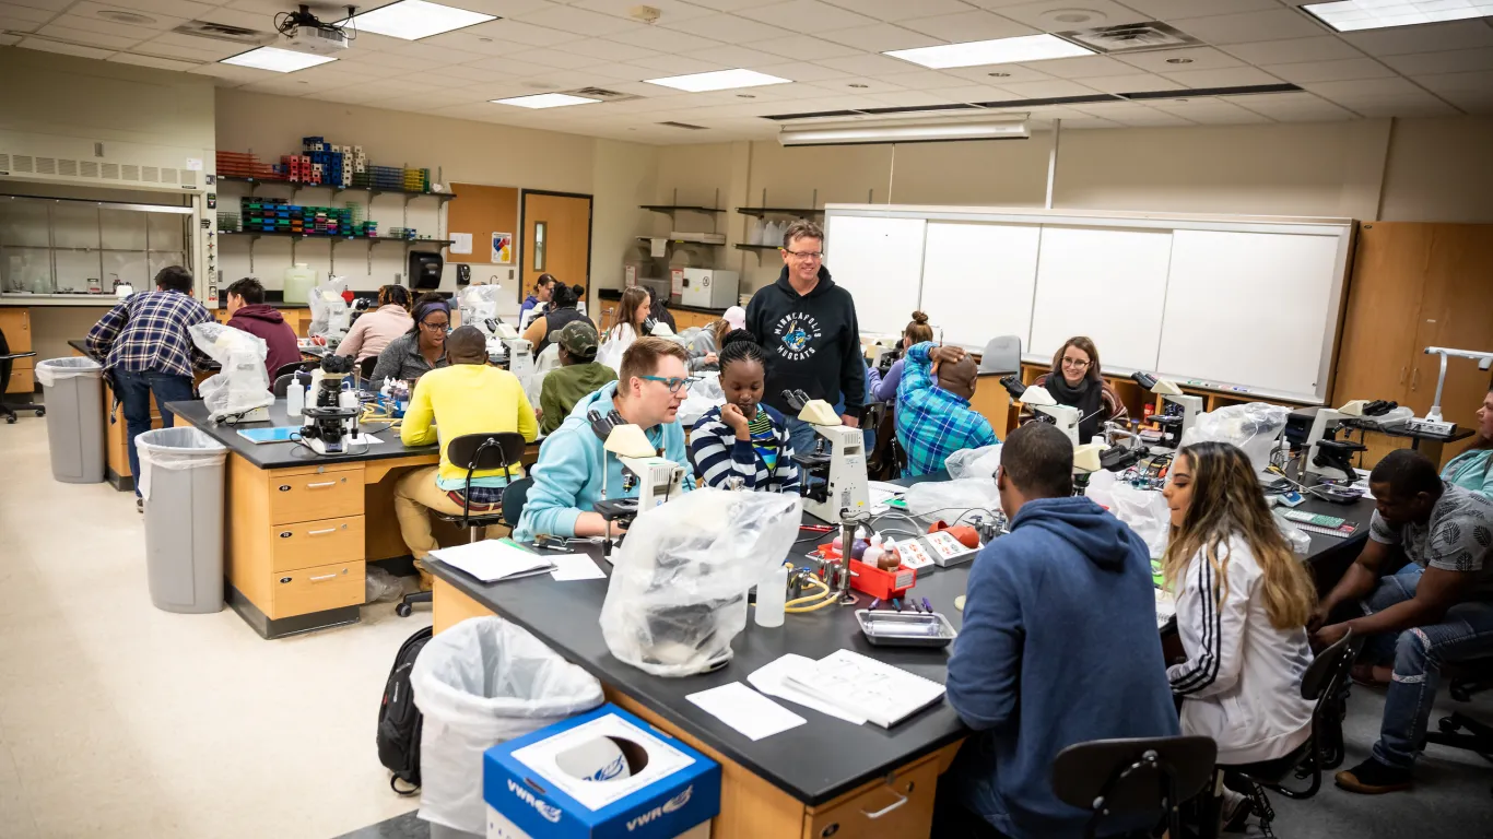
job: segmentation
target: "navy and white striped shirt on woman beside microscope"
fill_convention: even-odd
[[[706,487],[727,488],[727,479],[742,479],[746,490],[761,493],[797,493],[799,464],[793,461],[787,422],[782,415],[757,406],[757,422],[751,440],[738,440],[736,431],[721,421],[721,409],[712,408],[690,433],[690,461]]]

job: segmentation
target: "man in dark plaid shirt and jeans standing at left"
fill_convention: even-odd
[[[131,294],[88,330],[88,354],[103,363],[115,396],[124,403],[125,451],[134,476],[136,508],[140,496],[140,455],[134,437],[151,430],[151,394],[161,409],[161,422],[175,425],[167,402],[193,399],[193,367],[208,355],[191,342],[187,328],[211,324],[212,314],[191,296],[191,272],[181,266],[155,275],[155,291]]]

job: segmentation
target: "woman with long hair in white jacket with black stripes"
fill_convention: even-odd
[[[1172,511],[1163,573],[1187,652],[1166,675],[1182,699],[1182,733],[1212,737],[1220,764],[1284,757],[1311,736],[1312,703],[1300,694],[1312,660],[1311,575],[1238,448],[1182,448],[1163,494]]]

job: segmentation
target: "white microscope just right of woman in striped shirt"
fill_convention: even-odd
[[[799,476],[803,509],[823,521],[839,521],[845,511],[869,509],[866,437],[861,430],[845,425],[830,403],[809,399],[802,390],[785,390],[782,399],[799,412],[800,421],[814,425],[820,434],[812,452],[793,454],[793,461],[803,470]],[[830,443],[827,454],[826,442]]]

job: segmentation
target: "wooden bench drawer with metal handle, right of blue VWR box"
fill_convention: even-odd
[[[924,760],[891,782],[875,784],[832,802],[805,818],[802,839],[884,839],[926,836],[933,818],[938,760]]]

